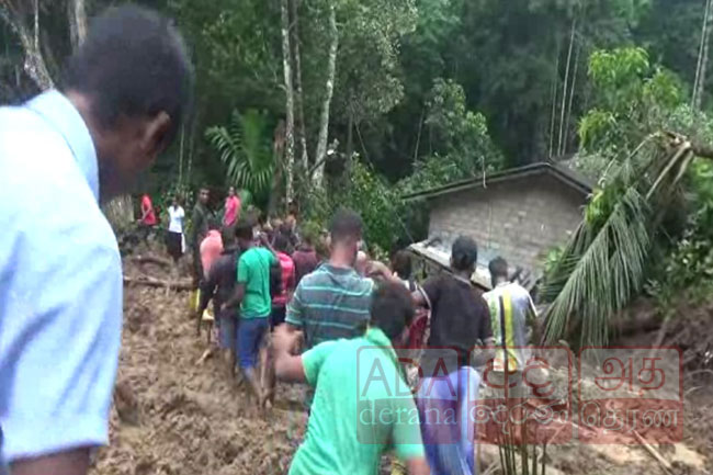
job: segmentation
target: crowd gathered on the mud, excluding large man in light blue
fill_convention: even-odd
[[[534,307],[528,292],[508,279],[508,263],[502,258],[490,262],[493,290],[480,293],[471,281],[477,246],[462,236],[451,249],[451,272],[419,283],[408,251],[394,252],[389,265],[369,258],[363,224],[354,212],[336,212],[328,229],[313,236],[301,230],[293,205],[284,218],[261,219],[241,213],[238,202],[226,219],[226,203],[218,219],[206,208],[207,193],[200,191],[193,212],[205,223],[194,226],[193,261],[201,267],[195,269],[199,329],[212,302],[215,317],[207,318],[215,320],[226,372],[248,383],[260,410],[272,407],[276,380],[309,386],[307,436],[291,473],[373,474],[387,448],[403,459],[403,464],[395,462],[397,472],[474,473],[475,427],[467,421],[454,429],[459,433],[452,443],[443,443],[442,428],[418,418],[382,423],[365,443],[358,408],[391,395],[372,385],[361,391],[354,371],[360,364],[376,364],[397,375],[403,387],[410,383],[418,388],[410,400],[393,404],[399,410],[410,405],[421,418],[448,410],[443,402],[455,387],[452,409],[464,414],[480,384],[471,355],[475,347],[505,349],[510,373],[523,364],[518,347],[527,344]],[[227,200],[233,196],[230,189]],[[369,347],[385,351],[358,363],[360,351]],[[445,374],[427,373],[414,382],[395,350],[421,348],[455,350],[456,359]],[[428,367],[428,361],[421,364]],[[468,430],[460,432],[463,427]]]

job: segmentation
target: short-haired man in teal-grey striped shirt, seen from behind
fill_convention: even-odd
[[[292,330],[303,331],[305,349],[364,333],[375,284],[353,268],[362,227],[356,213],[349,210],[335,213],[329,226],[329,261],[299,281],[287,305],[285,321]]]

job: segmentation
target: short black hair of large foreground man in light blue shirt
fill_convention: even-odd
[[[122,5],[91,22],[87,38],[67,63],[63,90],[88,94],[92,114],[105,127],[122,115],[165,111],[171,118],[169,144],[191,108],[193,67],[168,19]]]

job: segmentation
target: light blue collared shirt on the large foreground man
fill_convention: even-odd
[[[122,267],[73,105],[0,108],[2,462],[106,443]]]

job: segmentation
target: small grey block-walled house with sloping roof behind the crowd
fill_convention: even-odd
[[[430,212],[428,241],[411,250],[430,259],[423,249],[434,244],[450,253],[453,240],[466,235],[478,244],[479,274],[501,256],[513,269],[536,276],[547,251],[564,244],[580,223],[590,193],[582,178],[548,161],[412,193],[405,199],[426,200]]]

